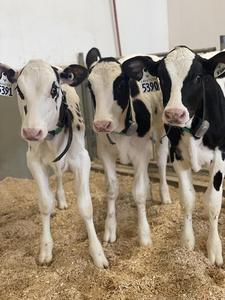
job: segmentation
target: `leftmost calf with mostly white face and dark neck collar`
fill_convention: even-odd
[[[78,207],[87,228],[90,255],[96,266],[106,267],[108,262],[92,217],[90,159],[84,145],[85,128],[79,97],[71,87],[86,78],[87,70],[79,65],[60,70],[42,60],[33,60],[18,72],[0,65],[0,73],[16,83],[22,117],[21,135],[28,142],[27,165],[39,189],[42,219],[39,262],[48,264],[52,260],[50,217],[55,197],[48,182],[47,169],[50,167],[56,175],[56,200],[60,209],[67,207],[62,173],[66,170],[74,173]]]

